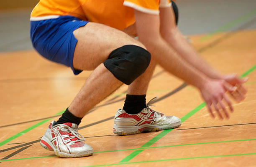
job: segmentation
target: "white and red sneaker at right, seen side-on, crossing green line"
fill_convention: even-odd
[[[175,116],[165,116],[156,112],[149,106],[157,97],[151,99],[146,108],[140,113],[130,115],[125,110],[118,109],[115,114],[114,130],[118,135],[133,135],[141,132],[155,132],[159,130],[172,129],[181,125],[181,120]]]

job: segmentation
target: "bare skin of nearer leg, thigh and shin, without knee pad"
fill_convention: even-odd
[[[78,40],[74,52],[74,68],[95,69],[69,106],[73,115],[84,117],[92,107],[122,85],[102,64],[110,52],[123,45],[145,47],[122,31],[93,22],[75,30],[74,36]]]

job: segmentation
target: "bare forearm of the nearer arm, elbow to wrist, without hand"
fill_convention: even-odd
[[[148,51],[154,56],[159,65],[188,84],[200,88],[209,79],[202,72],[184,61],[161,36],[154,37],[154,40],[142,39],[141,42],[148,48]]]

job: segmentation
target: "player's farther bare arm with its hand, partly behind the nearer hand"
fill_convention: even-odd
[[[234,74],[221,75],[200,58],[194,48],[184,39],[183,35],[177,29],[172,7],[160,7],[160,33],[164,40],[166,40],[184,60],[197,68],[197,70],[200,70],[211,79],[225,80],[231,85],[239,85],[242,90],[245,90],[242,84],[246,82],[248,78],[240,79]],[[236,100],[241,101],[243,98],[237,97]]]

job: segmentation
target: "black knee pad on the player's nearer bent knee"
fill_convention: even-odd
[[[143,74],[151,60],[151,54],[136,45],[125,45],[110,53],[105,67],[121,82],[130,85]]]

